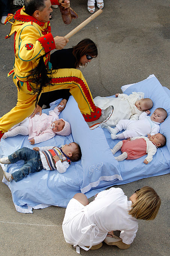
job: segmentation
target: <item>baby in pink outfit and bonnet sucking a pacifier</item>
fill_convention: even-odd
[[[34,145],[53,138],[56,134],[68,136],[71,134],[70,123],[59,119],[59,106],[49,111],[49,114],[36,114],[33,118],[27,117],[21,123],[14,125],[8,132],[4,133],[3,139],[18,134],[29,135],[29,142]]]

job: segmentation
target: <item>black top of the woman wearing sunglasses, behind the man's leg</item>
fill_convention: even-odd
[[[52,69],[75,69],[76,59],[72,54],[73,48],[56,50],[50,55],[50,62],[52,64]],[[57,99],[66,99],[68,101],[71,93],[69,89],[61,89],[55,91],[49,91],[47,93],[42,93],[39,98],[38,105],[42,107],[47,105],[50,108],[50,103],[56,101]]]

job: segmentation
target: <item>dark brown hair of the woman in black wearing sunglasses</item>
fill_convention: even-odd
[[[88,54],[96,58],[98,56],[98,49],[96,44],[90,40],[89,38],[85,38],[81,40],[76,46],[73,46],[73,55],[76,58],[75,68],[78,69],[80,66],[86,66],[86,64],[82,65],[80,63],[80,59],[83,55]]]

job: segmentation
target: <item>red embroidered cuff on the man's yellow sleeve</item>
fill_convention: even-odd
[[[44,35],[44,37],[40,37],[38,41],[41,43],[42,47],[44,48],[45,53],[56,49],[54,38],[51,33]]]

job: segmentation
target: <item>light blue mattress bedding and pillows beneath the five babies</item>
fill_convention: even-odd
[[[125,88],[126,86],[122,90],[124,91]],[[131,94],[132,91],[143,91],[145,98],[152,99],[151,114],[158,107],[165,108],[168,112],[167,119],[160,125],[160,133],[165,135],[167,144],[157,150],[152,162],[145,165],[143,163],[145,157],[117,162],[110,148],[113,148],[118,140],[111,140],[107,129],[101,127],[90,131],[77,103],[71,96],[65,110],[60,114],[60,118],[71,123],[72,134],[69,136],[56,135],[46,142],[36,144],[36,146],[61,146],[75,141],[81,147],[82,158],[78,162],[71,163],[71,166],[63,174],[57,171],[42,170],[28,175],[17,183],[14,180],[8,183],[3,178],[3,182],[11,189],[18,212],[32,213],[32,208],[39,209],[50,205],[66,207],[69,200],[78,192],[85,193],[89,198],[109,186],[170,172],[170,126],[168,125],[170,123],[170,91],[166,87],[162,87],[154,76],[132,84],[126,88],[124,93]],[[58,102],[60,101],[57,101],[56,105]],[[56,105],[53,105],[51,109]],[[45,113],[48,111],[44,110]],[[28,136],[18,135],[2,139],[0,157],[8,156],[24,146],[29,148],[34,146],[29,144]],[[120,152],[116,154],[119,155]],[[2,165],[2,168],[12,173],[18,170],[22,164],[23,161],[19,161],[13,165]]]

